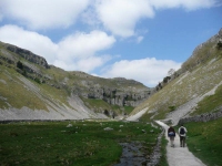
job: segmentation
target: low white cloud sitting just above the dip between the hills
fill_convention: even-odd
[[[181,63],[171,60],[142,59],[122,60],[115,62],[101,74],[104,77],[127,77],[133,79],[153,87],[168,75],[170,69],[180,69]]]

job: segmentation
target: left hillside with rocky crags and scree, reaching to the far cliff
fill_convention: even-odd
[[[67,72],[0,42],[0,120],[117,116],[130,113],[150,94],[151,89],[137,81]]]

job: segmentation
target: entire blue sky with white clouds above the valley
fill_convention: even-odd
[[[0,0],[0,41],[150,87],[221,28],[221,0]]]

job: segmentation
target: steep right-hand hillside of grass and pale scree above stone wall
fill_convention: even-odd
[[[222,30],[199,45],[167,84],[140,104],[131,115],[144,112],[141,120],[178,120],[196,110],[198,103],[222,84]],[[210,112],[210,111],[209,111]]]

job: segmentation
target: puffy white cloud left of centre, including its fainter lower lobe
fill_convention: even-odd
[[[104,64],[110,56],[97,56],[97,52],[107,50],[113,45],[115,39],[102,31],[91,31],[90,33],[78,32],[64,38],[59,42],[58,60],[65,62],[67,70],[79,69],[84,72]],[[59,63],[58,63],[59,64]]]

